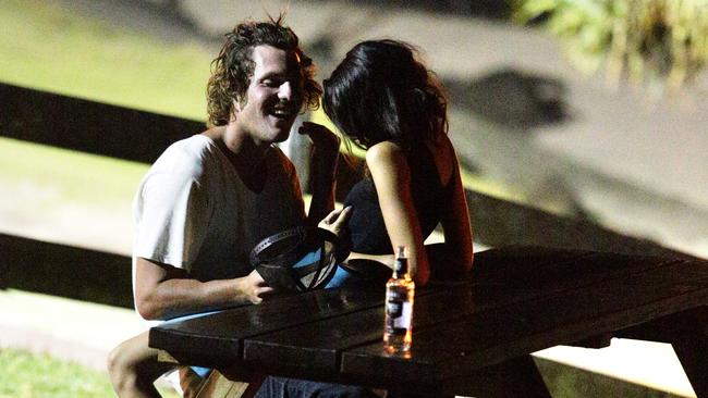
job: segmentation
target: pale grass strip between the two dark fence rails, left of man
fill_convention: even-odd
[[[126,254],[147,167],[0,137],[0,231]]]

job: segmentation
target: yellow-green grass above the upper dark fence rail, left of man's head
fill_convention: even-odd
[[[204,120],[212,54],[98,23],[57,3],[0,3],[0,80]]]

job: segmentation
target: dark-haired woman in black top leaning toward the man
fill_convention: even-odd
[[[461,275],[473,261],[469,214],[455,151],[448,138],[447,101],[413,47],[364,41],[326,79],[324,109],[366,150],[366,177],[350,191],[353,259],[389,266],[393,248],[408,250],[418,285]],[[431,266],[425,239],[441,224],[444,258]]]

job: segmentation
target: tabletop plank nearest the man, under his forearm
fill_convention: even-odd
[[[267,306],[245,306],[150,328],[150,347],[188,364],[231,363],[241,358],[243,340],[303,323],[380,306],[380,289],[331,289],[274,298]],[[176,352],[176,355],[175,355]]]

